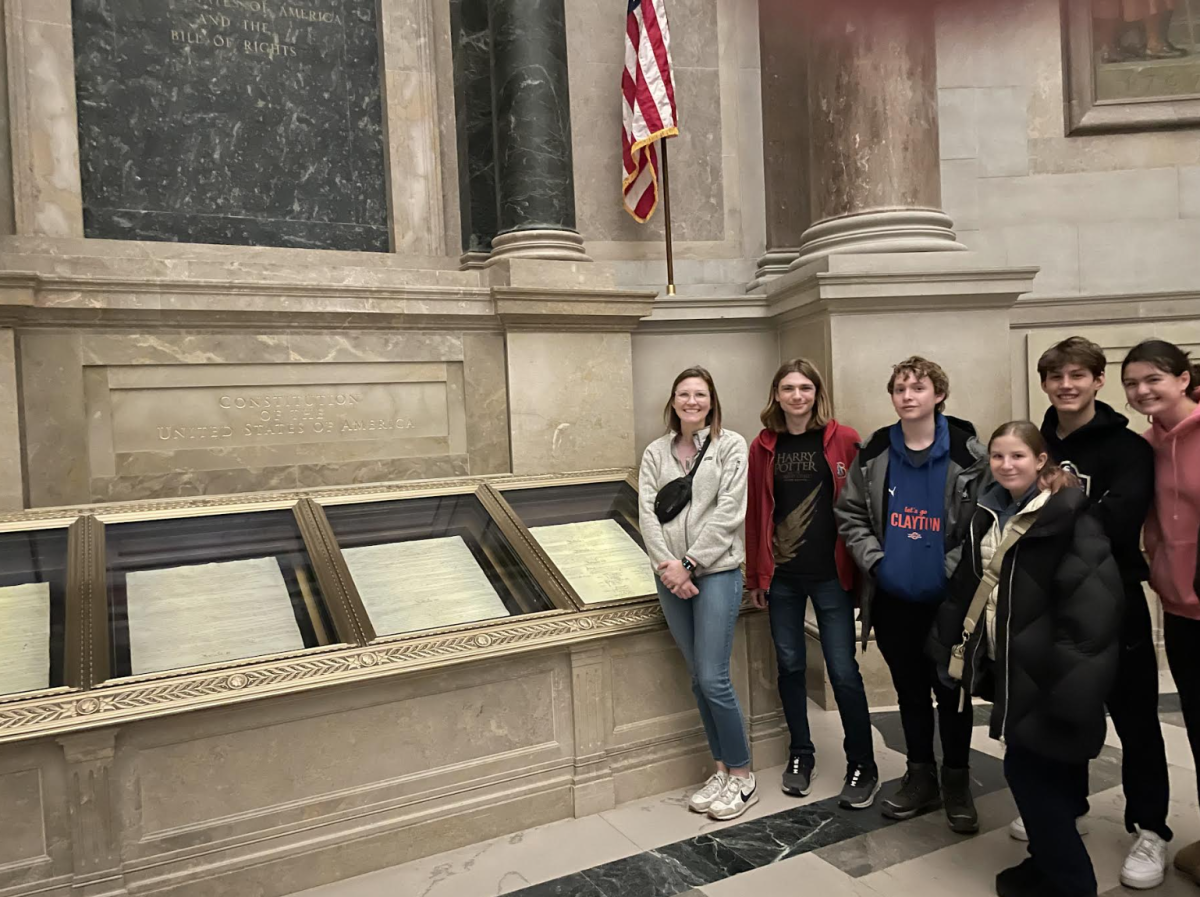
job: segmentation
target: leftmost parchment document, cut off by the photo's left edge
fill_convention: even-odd
[[[50,584],[0,586],[0,694],[50,687]]]

